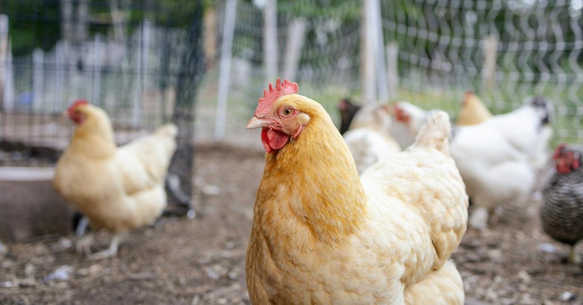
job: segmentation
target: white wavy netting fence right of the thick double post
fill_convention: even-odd
[[[382,15],[405,93],[447,108],[472,88],[495,114],[547,95],[556,140],[581,141],[581,1],[382,1]]]

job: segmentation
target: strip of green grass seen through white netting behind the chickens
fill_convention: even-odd
[[[239,88],[236,92],[231,90],[228,101],[228,115],[230,118],[247,122],[253,115],[255,107],[257,107],[257,99],[262,95],[262,88],[265,87],[264,82],[262,79],[252,78],[247,87]],[[472,87],[480,88],[480,84],[475,82],[473,81]],[[312,83],[299,83],[298,85],[300,86],[300,93],[322,104],[336,124],[339,124],[340,120],[337,105],[341,98],[352,97],[356,102],[361,100],[360,91],[350,90],[342,86],[333,84],[321,86]],[[477,90],[476,94],[482,98],[486,107],[494,115],[510,112],[518,108],[525,97],[536,94],[549,96],[553,100],[555,108],[565,106],[571,109],[570,111],[575,112],[577,104],[570,101],[567,90],[557,91],[557,88],[552,86],[540,86],[538,88],[524,86],[526,90],[519,90],[518,88],[522,88],[521,85],[521,83],[506,83],[492,90]],[[419,90],[402,87],[399,88],[395,97],[388,102],[409,101],[424,109],[442,109],[447,111],[455,122],[466,90],[468,90],[467,87],[452,87],[447,90],[428,86],[424,86]],[[577,96],[583,96],[583,90],[581,90],[581,94],[579,91],[577,90],[576,92]],[[205,105],[205,107],[216,107],[216,75],[203,81],[198,102],[201,105]],[[577,130],[583,126],[583,118],[581,116],[556,114],[552,125],[554,130],[567,130],[567,134],[561,135],[554,132],[550,143],[551,147],[563,142],[583,144],[583,139],[577,136]]]

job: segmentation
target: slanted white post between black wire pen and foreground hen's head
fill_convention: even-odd
[[[215,140],[223,140],[227,119],[227,98],[231,74],[231,51],[235,32],[237,0],[227,0],[224,8],[223,43],[221,45],[217,110],[215,115]]]

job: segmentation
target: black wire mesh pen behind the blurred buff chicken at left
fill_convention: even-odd
[[[1,0],[0,166],[54,164],[73,131],[62,112],[83,99],[107,112],[118,144],[174,122],[170,172],[189,194],[205,69],[202,3],[187,6],[182,18],[153,1]]]

